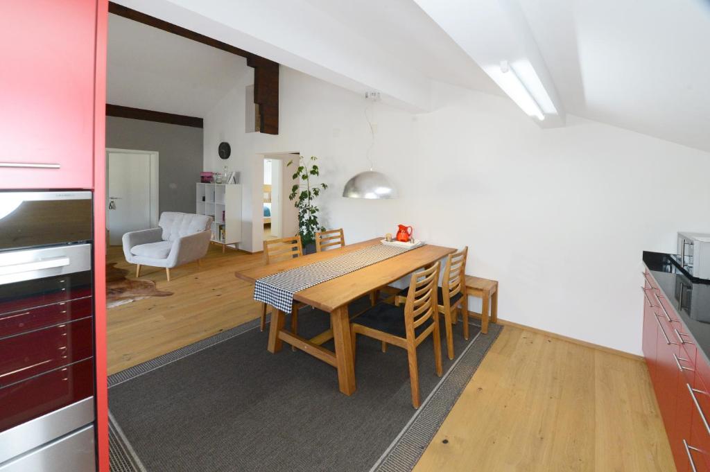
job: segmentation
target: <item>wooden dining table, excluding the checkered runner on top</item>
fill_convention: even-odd
[[[240,270],[235,275],[246,282],[255,283],[257,279],[273,275],[304,265],[341,256],[352,251],[357,251],[367,246],[380,244],[382,238],[373,238],[360,243],[349,244],[331,251],[309,254],[278,263],[262,265],[256,268]],[[337,369],[338,386],[345,395],[352,395],[356,389],[355,362],[353,346],[351,345],[350,319],[348,304],[358,300],[374,290],[388,285],[415,270],[435,263],[437,260],[456,252],[453,248],[444,248],[425,244],[398,256],[382,260],[378,263],[355,270],[326,282],[313,285],[305,290],[296,292],[294,300],[322,309],[330,314],[332,329],[325,331],[311,339],[284,329],[285,313],[272,307],[271,326],[268,334],[268,351],[277,353],[283,346],[283,341],[300,349],[311,356],[330,364]],[[333,339],[335,351],[324,348],[322,344]]]

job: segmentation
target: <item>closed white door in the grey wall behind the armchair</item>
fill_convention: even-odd
[[[121,246],[128,231],[157,224],[158,153],[107,150],[109,244]]]

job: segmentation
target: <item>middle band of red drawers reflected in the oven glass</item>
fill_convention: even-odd
[[[91,318],[0,339],[0,388],[91,357]]]

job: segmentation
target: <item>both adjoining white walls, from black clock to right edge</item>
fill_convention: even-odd
[[[500,281],[503,319],[640,353],[642,251],[673,251],[678,230],[710,231],[710,153],[575,116],[543,131],[504,97],[443,84],[431,113],[376,108],[375,167],[400,198],[344,199],[368,167],[364,99],[282,67],[280,135],[244,133],[249,83],[204,120],[205,169],[221,170],[226,138],[247,219],[261,212],[258,154],[317,155],[332,186],[325,226],[354,242],[405,223],[431,243],[468,245],[466,272]],[[258,251],[260,226],[245,221],[243,248]]]

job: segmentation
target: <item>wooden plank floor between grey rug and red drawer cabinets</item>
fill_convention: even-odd
[[[506,326],[415,472],[671,472],[643,361]]]

